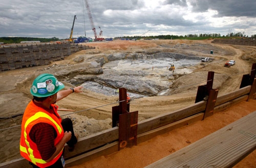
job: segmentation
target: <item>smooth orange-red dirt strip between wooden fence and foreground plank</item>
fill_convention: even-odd
[[[166,132],[132,148],[125,148],[113,154],[72,166],[72,168],[144,167],[250,114],[256,110],[255,104],[255,99],[240,102],[203,121]],[[256,150],[234,167],[256,167]]]

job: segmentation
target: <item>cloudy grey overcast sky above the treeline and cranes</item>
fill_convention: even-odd
[[[2,0],[0,37],[94,38],[85,0]],[[88,0],[103,37],[256,34],[255,0]]]

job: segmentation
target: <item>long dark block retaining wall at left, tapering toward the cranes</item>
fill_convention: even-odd
[[[0,71],[48,65],[74,52],[93,48],[69,43],[3,46],[0,47]]]

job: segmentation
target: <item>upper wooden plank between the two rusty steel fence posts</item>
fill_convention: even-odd
[[[172,111],[163,115],[159,115],[147,120],[143,120],[138,124],[138,134],[146,131],[170,124],[186,117],[193,116],[201,111],[204,111],[206,107],[205,101],[200,101],[188,107]]]

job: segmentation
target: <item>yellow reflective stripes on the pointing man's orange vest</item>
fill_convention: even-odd
[[[58,123],[55,120],[53,120],[48,114],[43,113],[41,111],[37,112],[36,114],[34,114],[33,116],[31,116],[30,118],[27,119],[27,121],[25,123],[25,127],[24,127],[24,138],[25,138],[25,143],[26,143],[28,149],[26,147],[23,147],[20,144],[20,151],[26,153],[28,155],[28,157],[30,158],[31,162],[34,163],[35,165],[37,165],[37,163],[45,164],[47,162],[45,160],[41,159],[41,158],[35,158],[34,157],[33,149],[31,149],[30,144],[29,144],[29,142],[27,140],[28,139],[28,137],[27,137],[28,135],[27,135],[27,131],[26,130],[27,130],[27,126],[31,122],[33,122],[33,121],[35,121],[35,120],[37,120],[39,118],[46,118],[46,119],[48,119],[49,121],[51,121],[56,126],[57,131],[58,131],[59,134],[61,134],[61,132],[62,132],[62,128],[58,125]],[[62,150],[63,150],[63,148],[62,148]],[[60,153],[56,157],[58,157],[61,154],[62,150],[60,151]]]

